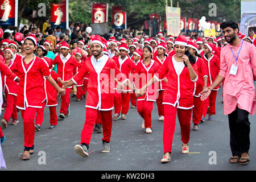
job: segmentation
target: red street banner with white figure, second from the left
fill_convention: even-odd
[[[57,26],[62,29],[68,28],[68,0],[60,3],[51,3],[51,28]]]

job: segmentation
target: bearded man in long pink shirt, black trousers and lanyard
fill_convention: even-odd
[[[230,130],[230,163],[249,163],[250,122],[248,115],[255,111],[256,49],[238,38],[239,27],[233,21],[221,23],[229,44],[221,49],[220,73],[208,88],[201,92],[205,100],[213,88],[225,78],[223,86],[224,114],[228,114]]]

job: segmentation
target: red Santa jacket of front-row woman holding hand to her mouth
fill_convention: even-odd
[[[191,109],[193,107],[193,93],[195,90],[195,82],[192,81],[188,68],[182,69],[178,76],[174,66],[174,56],[168,57],[162,67],[155,74],[156,80],[163,79],[168,74],[168,82],[164,90],[163,104],[177,106],[179,109]],[[197,65],[193,64],[192,68],[197,74]]]

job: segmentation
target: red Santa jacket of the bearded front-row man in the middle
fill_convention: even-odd
[[[114,104],[114,82],[125,82],[127,78],[122,74],[115,61],[106,55],[96,60],[94,56],[85,60],[81,71],[72,78],[77,84],[85,75],[89,75],[85,107],[98,110],[112,110]]]

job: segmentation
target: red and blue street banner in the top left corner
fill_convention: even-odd
[[[0,0],[0,26],[18,26],[18,0]]]

